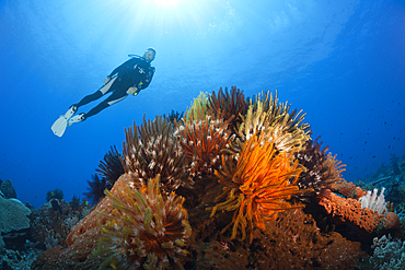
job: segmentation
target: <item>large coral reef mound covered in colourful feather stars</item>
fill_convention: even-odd
[[[32,269],[361,269],[374,236],[402,236],[393,204],[344,180],[344,165],[277,93],[201,92],[181,117],[125,129],[123,154],[112,149],[93,178],[107,196],[84,219],[77,198],[49,201],[40,219],[57,216],[62,232],[57,242],[38,233],[51,248]],[[396,164],[379,184],[401,188]]]

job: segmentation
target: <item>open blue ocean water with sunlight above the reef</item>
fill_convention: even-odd
[[[53,134],[59,115],[148,47],[147,90]],[[277,90],[347,164],[347,180],[405,152],[404,1],[2,1],[0,63],[0,179],[36,208],[56,188],[83,197],[143,114],[183,111],[221,86]]]

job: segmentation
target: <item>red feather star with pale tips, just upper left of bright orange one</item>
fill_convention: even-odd
[[[185,121],[177,125],[175,133],[180,136],[188,163],[189,179],[201,178],[212,174],[220,165],[221,151],[229,148],[234,136],[228,130],[228,122],[211,120]]]

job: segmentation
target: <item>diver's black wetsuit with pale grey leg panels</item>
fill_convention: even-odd
[[[118,73],[118,74],[117,74]],[[116,77],[114,77],[117,74]],[[108,75],[112,78],[108,83],[103,85],[94,94],[84,96],[78,104],[74,104],[78,108],[93,102],[103,95],[113,92],[104,102],[92,108],[88,114],[84,114],[83,120],[99,114],[106,107],[123,101],[127,97],[127,91],[129,87],[137,87],[139,93],[141,90],[149,86],[154,74],[154,68],[150,66],[150,62],[141,57],[134,57],[121,66],[113,70]]]

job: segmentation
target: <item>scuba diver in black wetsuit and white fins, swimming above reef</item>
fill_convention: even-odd
[[[68,111],[54,122],[51,127],[54,133],[61,137],[66,128],[72,124],[84,121],[106,107],[123,101],[128,95],[137,95],[141,90],[148,87],[154,74],[154,67],[151,67],[150,63],[155,55],[157,51],[153,48],[147,49],[142,57],[128,55],[131,58],[114,69],[104,80],[104,85],[101,89],[93,94],[84,96],[79,103],[71,105]],[[81,106],[108,93],[112,94],[89,113],[73,116]]]

